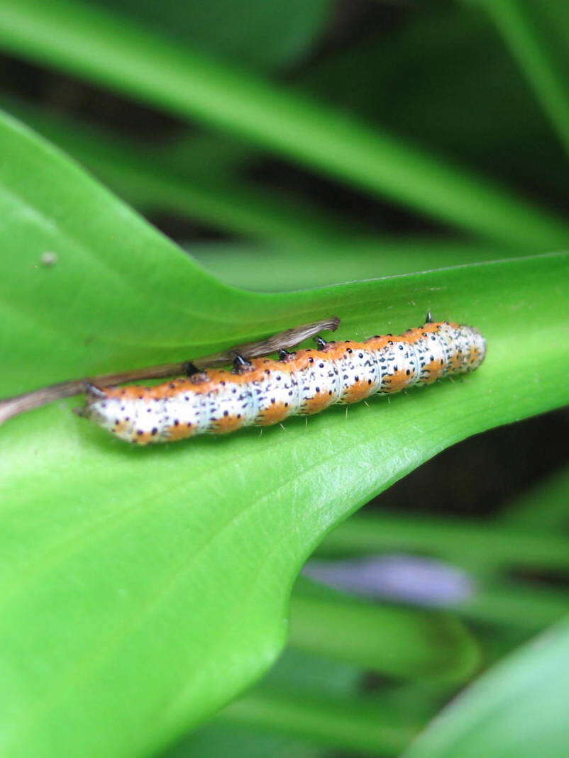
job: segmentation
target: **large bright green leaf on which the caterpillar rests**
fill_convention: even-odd
[[[431,308],[489,343],[464,381],[262,437],[135,449],[72,403],[2,427],[0,750],[137,756],[275,659],[291,584],[332,525],[445,446],[569,400],[569,255],[246,293],[8,118],[0,146],[4,396],[333,314],[339,336],[357,338]]]

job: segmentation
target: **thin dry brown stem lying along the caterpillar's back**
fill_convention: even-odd
[[[302,324],[300,327],[294,327],[283,332],[278,332],[278,334],[273,334],[272,337],[267,337],[265,340],[247,342],[222,352],[215,352],[211,356],[196,358],[191,361],[191,364],[195,368],[200,369],[227,365],[231,363],[237,353],[247,359],[268,356],[279,349],[294,347],[304,340],[314,337],[321,331],[335,331],[339,323],[339,318],[328,318],[325,321]],[[123,384],[123,382],[127,381],[171,377],[176,374],[185,374],[187,366],[188,362],[182,361],[179,363],[164,363],[159,366],[150,366],[149,368],[134,368],[132,371],[122,371],[119,374],[99,374],[96,377],[62,381],[59,384],[41,387],[39,390],[33,390],[33,392],[27,392],[23,395],[7,397],[4,400],[0,400],[0,424],[20,413],[45,406],[48,402],[79,395],[86,391],[88,384],[95,384],[96,387],[111,387],[114,384]]]

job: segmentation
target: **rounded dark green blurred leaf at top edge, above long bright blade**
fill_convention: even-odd
[[[91,0],[93,2],[93,0]],[[94,0],[125,11],[204,52],[261,69],[307,55],[330,14],[331,0]]]

